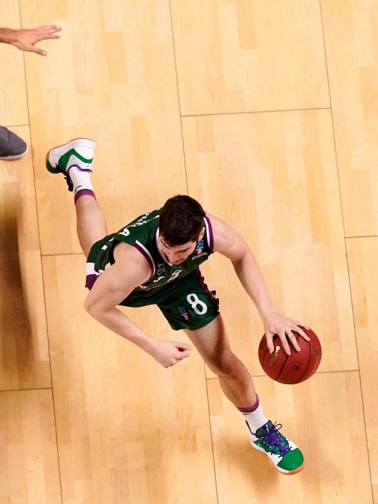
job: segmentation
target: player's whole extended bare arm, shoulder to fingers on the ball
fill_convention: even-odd
[[[230,259],[241,285],[259,310],[260,317],[264,322],[268,348],[273,352],[273,336],[278,334],[283,347],[290,353],[286,335],[291,340],[294,348],[300,351],[299,345],[292,331],[300,334],[305,340],[309,340],[301,327],[308,329],[303,322],[283,317],[275,310],[269,297],[263,275],[259,265],[250,250],[248,244],[232,227],[214,215],[209,215],[214,235],[214,251]]]

